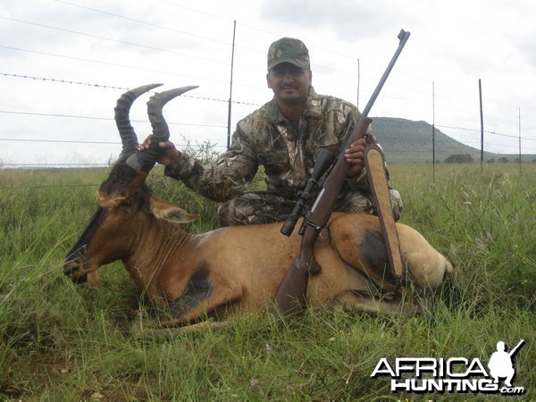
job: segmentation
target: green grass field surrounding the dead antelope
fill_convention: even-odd
[[[226,331],[138,340],[143,303],[121,264],[99,289],[63,276],[62,261],[95,210],[107,169],[0,169],[0,400],[535,400],[536,164],[391,166],[402,222],[456,266],[456,306],[422,316],[309,311],[289,325],[248,315]],[[214,227],[215,205],[153,172],[155,192]],[[390,392],[371,378],[381,357],[479,358],[498,340],[515,357],[521,397]]]

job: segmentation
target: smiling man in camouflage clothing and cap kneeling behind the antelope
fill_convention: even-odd
[[[273,99],[239,121],[232,143],[216,163],[202,165],[182,155],[172,142],[160,143],[158,163],[164,174],[182,180],[200,195],[222,203],[222,226],[285,221],[304,189],[322,148],[339,155],[360,113],[354,105],[314,92],[309,52],[298,39],[281,38],[268,51],[266,82]],[[374,214],[371,190],[364,172],[366,142],[372,130],[345,150],[351,163],[335,211]],[[148,149],[149,136],[140,146]],[[267,190],[245,191],[260,165]],[[395,219],[402,202],[389,190]]]

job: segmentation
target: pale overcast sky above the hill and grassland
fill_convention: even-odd
[[[427,121],[480,148],[482,116],[484,150],[536,154],[534,15],[527,0],[3,0],[0,167],[113,161],[116,99],[147,83],[199,86],[165,106],[171,139],[222,152],[272,98],[266,52],[281,37],[306,43],[316,92],[363,109],[400,29],[411,36],[373,119]],[[130,114],[139,141],[148,96]]]

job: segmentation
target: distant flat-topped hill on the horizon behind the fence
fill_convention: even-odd
[[[431,162],[431,124],[426,121],[411,121],[394,117],[373,117],[374,135],[381,144],[388,163]],[[450,155],[469,154],[473,161],[480,163],[480,149],[468,147],[456,139],[435,129],[435,160],[445,162]],[[519,155],[493,154],[484,152],[484,161],[498,162],[506,157],[509,162]],[[523,161],[532,162],[536,155],[523,155]]]

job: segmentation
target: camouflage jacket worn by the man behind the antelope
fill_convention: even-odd
[[[267,188],[294,198],[305,188],[322,147],[338,155],[359,115],[356,106],[311,88],[305,112],[299,121],[289,121],[272,99],[238,122],[229,150],[215,163],[203,165],[182,155],[165,175],[223,202],[243,192],[263,165]],[[375,141],[370,127],[367,134],[368,141]],[[368,189],[364,172],[347,180],[341,196],[356,189]]]

